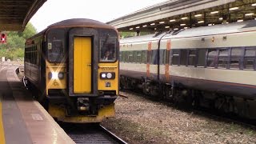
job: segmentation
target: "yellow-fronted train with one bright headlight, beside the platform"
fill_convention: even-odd
[[[118,48],[113,26],[83,18],[57,22],[26,40],[27,86],[58,121],[114,117]]]

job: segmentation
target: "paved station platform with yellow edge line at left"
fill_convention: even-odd
[[[74,143],[26,90],[17,68],[0,67],[0,144]]]

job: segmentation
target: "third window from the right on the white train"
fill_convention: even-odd
[[[229,49],[220,49],[218,54],[218,67],[228,68],[229,64]]]

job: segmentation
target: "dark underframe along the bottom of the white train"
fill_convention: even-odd
[[[180,82],[163,83],[146,78],[120,77],[121,89],[142,91],[152,98],[172,102],[182,107],[201,107],[219,114],[232,114],[241,118],[256,119],[256,101],[216,91],[196,90]]]

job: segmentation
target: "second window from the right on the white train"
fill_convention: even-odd
[[[239,69],[242,57],[242,47],[232,48],[230,55],[230,69]]]

